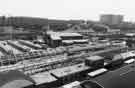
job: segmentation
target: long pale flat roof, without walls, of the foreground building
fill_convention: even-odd
[[[74,74],[77,72],[81,72],[84,70],[88,70],[90,67],[85,66],[84,63],[81,64],[77,64],[74,66],[68,66],[68,67],[63,67],[63,68],[59,68],[59,69],[55,69],[55,70],[51,70],[49,72],[51,72],[53,75],[57,76],[57,77],[64,77],[70,74]]]

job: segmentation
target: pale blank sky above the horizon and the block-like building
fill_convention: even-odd
[[[124,15],[135,22],[134,0],[1,0],[0,15],[94,20],[101,14]]]

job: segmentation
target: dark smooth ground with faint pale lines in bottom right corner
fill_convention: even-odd
[[[117,70],[98,76],[92,81],[104,88],[135,88],[135,64],[129,64]],[[93,87],[92,87],[93,88]]]

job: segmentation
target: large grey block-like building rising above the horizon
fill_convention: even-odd
[[[120,24],[123,21],[123,15],[103,14],[100,16],[100,22],[110,25]]]

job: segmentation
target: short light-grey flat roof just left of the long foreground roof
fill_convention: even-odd
[[[38,73],[38,74],[32,75],[31,78],[36,82],[36,85],[50,83],[57,80],[49,72]]]

